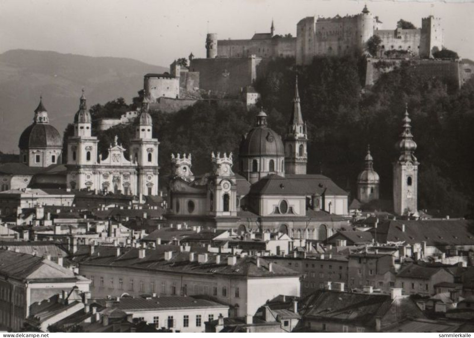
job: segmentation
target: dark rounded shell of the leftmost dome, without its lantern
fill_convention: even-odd
[[[61,135],[50,124],[33,123],[21,133],[18,142],[20,149],[28,148],[62,148]]]

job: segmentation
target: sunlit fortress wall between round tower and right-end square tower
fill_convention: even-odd
[[[421,29],[395,29],[395,30],[378,30],[374,31],[374,35],[382,39],[382,50],[391,49],[410,50],[414,56],[419,55]]]

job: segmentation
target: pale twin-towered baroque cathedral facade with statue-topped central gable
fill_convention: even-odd
[[[92,136],[92,119],[84,93],[74,116],[74,135],[67,140],[67,187],[123,195],[158,195],[158,140],[152,137],[153,121],[146,99],[137,117],[135,138],[128,153],[118,143],[109,146],[108,156],[98,156],[99,140]]]

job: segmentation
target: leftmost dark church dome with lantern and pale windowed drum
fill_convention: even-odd
[[[61,163],[63,142],[56,128],[49,124],[48,112],[40,97],[33,124],[21,133],[18,148],[20,161],[30,167],[48,167]]]

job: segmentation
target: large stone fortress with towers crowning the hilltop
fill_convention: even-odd
[[[374,35],[382,39],[380,55],[386,51],[406,51],[413,57],[432,58],[443,47],[441,20],[429,16],[421,20],[421,28],[382,29],[379,17],[364,7],[361,13],[334,18],[306,17],[296,26],[296,37],[256,33],[247,40],[218,40],[215,33],[206,38],[206,56],[213,58],[294,57],[298,65],[311,63],[314,56],[342,56],[364,53],[365,44]]]

